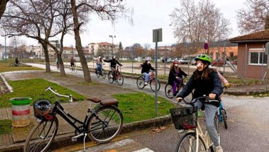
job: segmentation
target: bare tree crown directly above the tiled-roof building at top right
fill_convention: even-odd
[[[237,24],[240,32],[250,33],[265,29],[269,24],[269,1],[246,0],[244,4],[247,8],[241,8],[237,12]]]

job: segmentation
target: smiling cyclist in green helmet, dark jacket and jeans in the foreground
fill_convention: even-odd
[[[195,89],[193,98],[207,95],[210,99],[219,99],[219,95],[223,91],[217,71],[213,68],[208,68],[212,62],[211,57],[208,55],[198,55],[195,57],[195,61],[197,63],[197,70],[192,74],[183,91],[177,95],[177,102],[181,102],[181,99],[188,96],[193,89]],[[218,133],[214,126],[215,113],[217,112],[219,102],[203,102],[199,100],[195,102],[195,106],[199,109],[205,109],[208,135],[212,142],[214,142],[215,151],[222,152],[223,149],[221,148]]]

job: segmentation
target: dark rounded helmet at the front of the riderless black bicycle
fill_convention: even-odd
[[[52,105],[48,99],[40,99],[34,102],[34,116],[39,120],[52,120],[54,114],[52,113]]]

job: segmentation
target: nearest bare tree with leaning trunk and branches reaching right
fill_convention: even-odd
[[[126,11],[124,5],[122,4],[122,0],[92,0],[92,1],[76,1],[70,0],[72,7],[72,15],[74,21],[74,39],[76,41],[77,53],[79,54],[79,59],[81,61],[81,66],[83,70],[84,80],[86,83],[91,82],[90,71],[88,68],[87,61],[85,59],[85,55],[81,46],[81,38],[80,38],[80,27],[83,22],[79,21],[77,9],[83,6],[87,6],[90,9],[90,12],[94,12],[99,15],[102,20],[111,20],[117,19],[119,15],[123,15]],[[121,13],[118,13],[121,12]]]

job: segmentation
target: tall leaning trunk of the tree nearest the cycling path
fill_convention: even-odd
[[[74,20],[74,39],[76,41],[77,53],[79,54],[79,59],[81,61],[85,83],[90,83],[92,82],[92,79],[90,78],[90,70],[88,68],[88,64],[85,59],[85,55],[83,53],[82,46],[81,46],[81,39],[79,36],[80,25],[79,25],[79,19],[77,17],[77,7],[76,7],[75,0],[71,0],[71,6],[72,6],[72,14],[73,14],[73,20]]]

